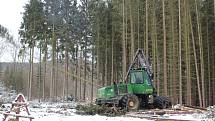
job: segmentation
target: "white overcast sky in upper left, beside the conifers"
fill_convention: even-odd
[[[17,40],[18,29],[22,21],[24,6],[29,0],[0,0],[0,24],[9,29],[9,32]],[[0,58],[1,61],[12,61],[9,53]]]

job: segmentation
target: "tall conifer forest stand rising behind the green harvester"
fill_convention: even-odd
[[[213,105],[214,6],[213,0],[30,0],[19,30],[19,55],[30,56],[25,93],[93,100],[97,88],[124,80],[143,48],[158,94],[174,104]]]

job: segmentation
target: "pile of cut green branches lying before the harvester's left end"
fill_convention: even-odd
[[[77,105],[76,113],[80,115],[104,115],[104,116],[120,116],[125,115],[127,111],[115,106],[106,106],[106,105],[95,105],[95,104],[86,104],[86,105]]]

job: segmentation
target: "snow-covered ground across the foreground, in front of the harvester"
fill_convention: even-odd
[[[77,103],[52,103],[52,102],[29,102],[29,109],[31,115],[34,117],[33,121],[150,121],[150,120],[194,120],[194,121],[215,121],[213,118],[206,118],[208,114],[214,112],[199,112],[187,114],[162,114],[156,115],[149,113],[153,110],[141,110],[138,112],[128,112],[122,116],[116,117],[107,117],[100,115],[78,115],[76,114],[75,106]],[[5,105],[5,108],[2,108],[0,119],[3,119],[3,112],[10,109],[10,104]],[[23,114],[24,115],[24,114]],[[29,121],[29,119],[22,119],[20,121]]]

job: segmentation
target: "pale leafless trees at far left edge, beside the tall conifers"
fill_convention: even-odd
[[[11,54],[13,59],[11,66],[7,67],[4,65],[4,62],[0,62],[0,81],[5,80],[4,85],[6,87],[21,91],[23,89],[22,69],[16,63],[18,49],[19,45],[13,35],[6,27],[0,25],[0,59],[7,59],[4,57],[5,53]],[[1,82],[1,84],[3,83]]]

